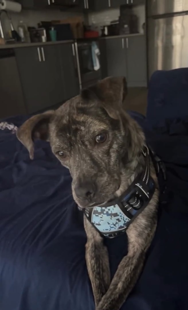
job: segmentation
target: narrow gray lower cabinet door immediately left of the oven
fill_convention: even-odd
[[[68,100],[78,95],[80,91],[74,44],[60,44],[59,55],[64,100]]]

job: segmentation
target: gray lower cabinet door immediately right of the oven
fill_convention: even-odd
[[[125,38],[100,40],[102,78],[107,76],[127,76]]]

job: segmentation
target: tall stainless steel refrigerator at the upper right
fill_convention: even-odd
[[[148,74],[188,67],[188,0],[147,1]]]

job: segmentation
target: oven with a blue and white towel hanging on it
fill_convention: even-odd
[[[93,59],[93,43],[98,47],[97,40],[77,40],[75,43],[80,88],[88,87],[101,79],[100,56],[97,55],[99,61],[97,69]]]

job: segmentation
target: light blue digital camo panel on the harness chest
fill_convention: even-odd
[[[91,222],[100,232],[116,232],[125,229],[130,219],[118,205],[94,207]]]

